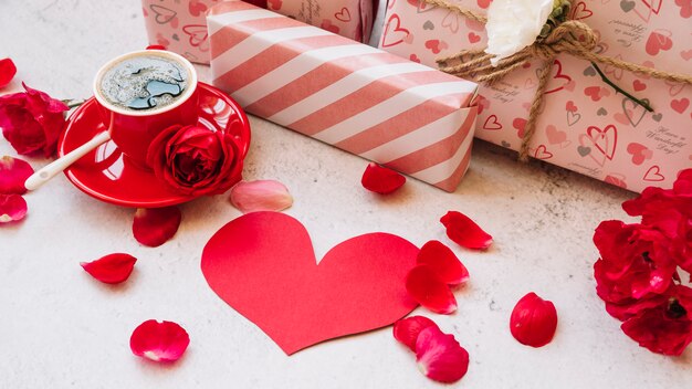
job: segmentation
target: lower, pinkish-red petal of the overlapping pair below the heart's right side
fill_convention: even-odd
[[[420,332],[416,360],[426,377],[439,382],[455,382],[469,370],[469,353],[437,326]]]

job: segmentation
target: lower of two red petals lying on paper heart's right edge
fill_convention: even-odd
[[[457,311],[457,298],[432,267],[422,264],[406,275],[406,290],[423,307],[442,315]]]

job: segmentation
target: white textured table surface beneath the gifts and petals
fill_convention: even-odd
[[[0,57],[11,56],[20,82],[54,97],[85,97],[97,67],[146,45],[138,0],[2,0]],[[206,70],[201,69],[202,80]],[[682,388],[692,353],[667,358],[619,329],[595,293],[594,228],[623,219],[633,195],[541,164],[517,165],[476,143],[455,193],[409,180],[392,197],[365,191],[367,162],[262,119],[252,118],[248,179],[274,178],[295,197],[289,214],[312,233],[317,256],[366,232],[399,234],[417,245],[450,243],[471,272],[457,292],[459,311],[439,316],[471,364],[460,388]],[[6,140],[0,155],[17,156]],[[34,168],[46,164],[30,159]],[[239,215],[227,196],[182,207],[175,239],[161,248],[132,236],[133,210],[98,202],[63,176],[28,195],[29,215],[0,228],[0,388],[422,388],[437,387],[391,329],[325,343],[286,357],[259,328],[218,298],[200,269],[201,250]],[[453,245],[438,219],[448,210],[474,218],[495,238],[489,252]],[[139,259],[123,286],[108,287],[78,265],[112,252]],[[271,287],[271,285],[268,285]],[[558,309],[555,339],[524,347],[508,330],[514,303],[530,291]],[[190,334],[171,366],[134,357],[132,330],[169,319]]]

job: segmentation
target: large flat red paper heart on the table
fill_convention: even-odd
[[[301,222],[254,212],[209,240],[201,267],[224,302],[291,355],[413,311],[405,280],[418,252],[402,238],[369,233],[337,244],[317,265]]]

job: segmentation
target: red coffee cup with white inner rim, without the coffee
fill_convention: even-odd
[[[115,66],[137,57],[155,57],[178,64],[187,72],[186,87],[171,103],[160,107],[130,109],[109,101],[102,87],[104,75]],[[176,124],[193,125],[198,120],[195,66],[181,55],[165,50],[140,50],[108,61],[96,73],[94,96],[102,120],[111,130],[111,139],[126,157],[141,167],[147,167],[147,149],[161,130]]]

